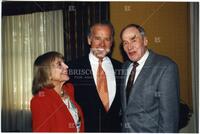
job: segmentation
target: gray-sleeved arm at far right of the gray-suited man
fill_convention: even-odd
[[[175,63],[170,63],[158,86],[160,92],[159,132],[178,132],[179,73]]]

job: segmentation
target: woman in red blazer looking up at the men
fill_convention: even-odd
[[[34,132],[83,132],[83,113],[74,100],[63,55],[47,52],[34,62],[31,100]]]

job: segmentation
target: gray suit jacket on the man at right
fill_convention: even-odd
[[[130,61],[123,65],[127,70]],[[125,71],[127,72],[127,71]],[[178,132],[179,73],[175,62],[149,50],[126,104],[125,73],[121,83],[123,132]]]

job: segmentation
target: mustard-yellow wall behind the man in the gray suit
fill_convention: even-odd
[[[110,19],[116,32],[112,57],[123,60],[119,49],[121,29],[129,23],[142,25],[148,47],[178,64],[180,96],[192,109],[189,3],[110,2]]]

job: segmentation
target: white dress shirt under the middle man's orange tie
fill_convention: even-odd
[[[90,51],[89,53],[89,61],[92,68],[92,74],[97,86],[97,69],[99,66],[99,59],[94,56],[94,54]],[[108,97],[109,97],[109,108],[115,98],[116,94],[116,80],[115,80],[115,72],[112,65],[111,60],[106,56],[102,61],[102,68],[106,74],[107,86],[108,86]]]

